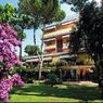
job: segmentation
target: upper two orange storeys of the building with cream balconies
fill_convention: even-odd
[[[56,26],[47,27],[44,30],[44,52],[69,52],[69,34],[76,22],[66,22]]]

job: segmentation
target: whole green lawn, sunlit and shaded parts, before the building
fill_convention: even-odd
[[[98,87],[77,85],[56,85],[50,87],[43,83],[25,85],[11,91],[11,102],[89,102],[100,101],[101,91]]]

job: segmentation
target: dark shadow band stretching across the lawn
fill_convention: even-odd
[[[56,96],[77,99],[81,102],[101,100],[101,90],[98,87],[59,85],[50,87],[47,85],[27,85],[24,88],[14,88],[12,94]]]

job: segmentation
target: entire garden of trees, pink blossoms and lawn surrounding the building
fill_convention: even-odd
[[[68,2],[69,1],[69,2]],[[101,7],[88,0],[18,0],[18,8],[0,4],[0,102],[103,102],[103,1]],[[89,60],[43,62],[43,34],[47,25],[61,23],[66,14],[61,3],[72,4],[79,21],[70,31],[69,52],[87,53]],[[88,11],[90,10],[90,11]],[[42,30],[37,46],[36,30]],[[23,56],[25,29],[33,29],[34,44],[26,46],[27,56],[38,56],[38,63],[27,63]],[[17,52],[18,50],[18,52]],[[18,54],[17,54],[18,53]],[[93,62],[92,62],[92,61]],[[67,67],[92,64],[89,76],[80,77]],[[64,69],[65,67],[66,69]],[[63,68],[64,67],[64,68]],[[49,69],[43,69],[49,68]],[[77,73],[77,74],[76,74]],[[79,72],[80,73],[80,72]],[[78,77],[80,78],[77,78]],[[87,81],[88,78],[91,81]],[[82,82],[82,80],[85,80]]]

